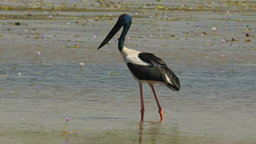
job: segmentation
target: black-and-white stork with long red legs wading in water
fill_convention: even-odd
[[[108,36],[103,40],[98,49],[102,48],[113,36],[124,26],[121,36],[118,41],[118,49],[125,60],[126,65],[128,66],[131,75],[138,81],[140,85],[141,93],[141,121],[144,117],[144,102],[143,102],[143,92],[142,92],[142,83],[146,82],[151,86],[154,98],[158,104],[158,112],[163,121],[163,111],[159,104],[157,95],[154,91],[153,84],[158,83],[165,85],[167,88],[170,88],[173,91],[180,90],[180,82],[174,72],[167,67],[164,61],[162,61],[157,56],[154,56],[152,53],[148,52],[139,52],[137,50],[128,49],[125,47],[125,36],[128,33],[128,30],[131,26],[131,16],[128,14],[122,14],[119,16],[117,23],[108,33]]]

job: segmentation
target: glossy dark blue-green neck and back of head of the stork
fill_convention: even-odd
[[[125,16],[125,20],[123,21],[123,23],[125,23],[124,28],[118,40],[118,49],[120,52],[125,47],[125,36],[128,33],[128,30],[131,26],[131,16],[129,15]]]

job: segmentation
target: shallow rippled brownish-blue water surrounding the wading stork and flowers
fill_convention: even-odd
[[[88,3],[85,8],[97,4],[75,2]],[[0,4],[18,3],[30,5],[21,1]],[[143,5],[133,3],[127,7]],[[200,2],[179,1],[182,4],[193,9],[166,12],[149,8],[135,10],[140,14],[136,17],[135,11],[99,7],[101,11],[54,12],[53,18],[38,11],[27,12],[32,16],[25,16],[24,11],[1,11],[5,15],[0,20],[0,143],[254,144],[255,3],[227,7],[215,2],[211,10],[195,9]],[[249,4],[253,8],[246,11]],[[176,7],[177,3],[171,1],[171,5]],[[220,10],[213,11],[214,7]],[[146,84],[145,121],[140,121],[139,85],[114,41],[120,32],[109,45],[96,50],[122,11],[133,17],[126,47],[161,57],[180,79],[179,92],[155,85],[163,122],[159,122],[158,107]],[[162,20],[162,13],[170,20]],[[104,14],[112,14],[113,20],[110,16],[96,20]],[[93,26],[85,23],[87,19],[94,20]],[[22,25],[11,24],[16,21]],[[219,36],[212,35],[213,26]],[[201,36],[203,31],[208,35]],[[246,31],[252,37],[246,37]],[[238,41],[231,42],[231,34]],[[222,44],[220,39],[226,42]],[[37,51],[41,56],[34,63]],[[81,75],[80,62],[85,63]],[[65,117],[72,119],[66,126],[67,134],[62,133]]]

